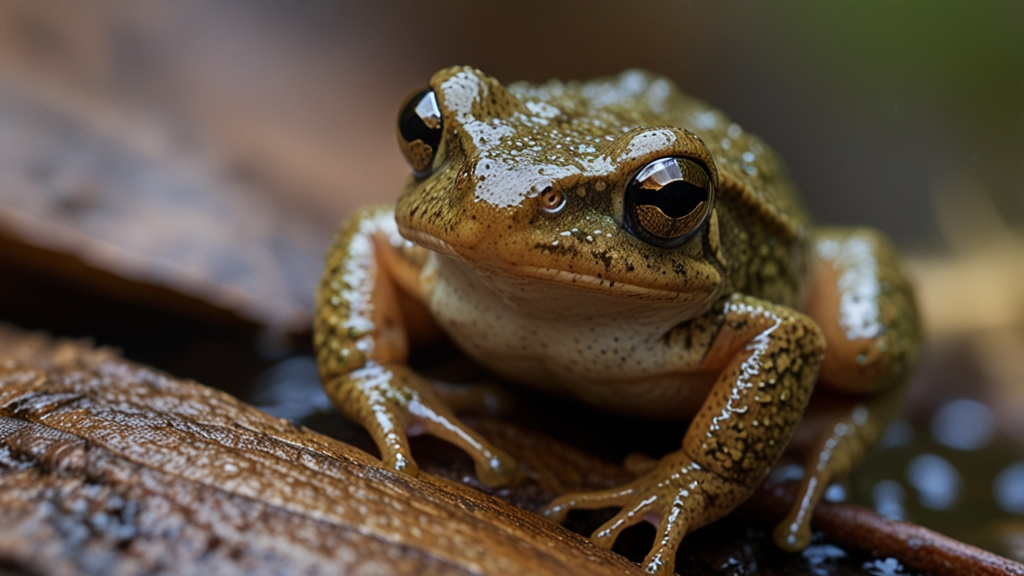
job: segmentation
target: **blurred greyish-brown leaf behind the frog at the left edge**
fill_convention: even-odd
[[[73,91],[5,77],[0,125],[0,261],[191,316],[308,329],[336,222]]]

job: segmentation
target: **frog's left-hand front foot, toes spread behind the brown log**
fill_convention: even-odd
[[[508,485],[516,477],[515,459],[459,420],[430,382],[404,365],[368,363],[325,389],[345,417],[367,428],[391,469],[419,475],[408,437],[424,433],[469,454],[487,486]]]

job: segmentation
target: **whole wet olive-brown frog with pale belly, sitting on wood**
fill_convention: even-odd
[[[628,459],[635,480],[560,495],[546,518],[617,509],[591,535],[603,548],[650,522],[643,567],[671,574],[683,537],[792,453],[802,480],[773,538],[808,545],[814,507],[878,442],[919,355],[882,233],[813,227],[760,137],[641,70],[506,86],[447,68],[400,107],[397,140],[408,179],[339,229],[313,323],[324,388],[384,467],[418,476],[409,438],[428,434],[486,486],[518,478],[457,416],[494,397],[409,367],[439,333],[502,379],[680,422],[679,450]]]

